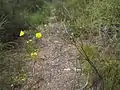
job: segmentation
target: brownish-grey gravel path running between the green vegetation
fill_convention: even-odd
[[[65,29],[59,23],[38,28],[43,34],[38,42],[39,59],[29,63],[31,78],[24,90],[78,90],[75,89],[77,51]]]

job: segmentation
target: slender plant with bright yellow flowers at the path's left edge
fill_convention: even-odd
[[[20,37],[24,37],[26,33],[31,33],[31,32],[25,32],[25,31],[20,31]],[[38,56],[38,51],[39,48],[36,46],[36,41],[42,38],[42,34],[41,32],[34,32],[33,34],[30,34],[31,37],[29,38],[29,36],[27,37],[28,39],[25,40],[25,46],[26,46],[26,51],[27,54],[35,59]]]

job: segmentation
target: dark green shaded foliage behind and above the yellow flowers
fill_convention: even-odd
[[[43,23],[49,12],[45,10],[46,4],[45,0],[0,0],[1,41],[14,40],[18,38],[20,30]]]

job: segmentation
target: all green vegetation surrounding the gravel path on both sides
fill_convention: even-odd
[[[120,0],[0,0],[0,89],[26,84],[26,63],[37,57],[42,37],[36,27],[53,9],[83,62],[83,90],[119,90]]]

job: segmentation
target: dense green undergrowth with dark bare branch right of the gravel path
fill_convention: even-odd
[[[71,29],[68,32],[83,54],[80,60],[89,75],[85,90],[120,88],[119,14],[120,0],[61,0],[57,6],[58,20]]]

